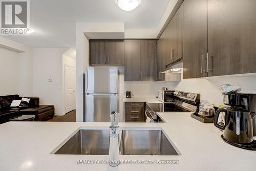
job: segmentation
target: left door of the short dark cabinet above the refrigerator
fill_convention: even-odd
[[[90,64],[105,65],[107,63],[108,41],[90,41]]]

